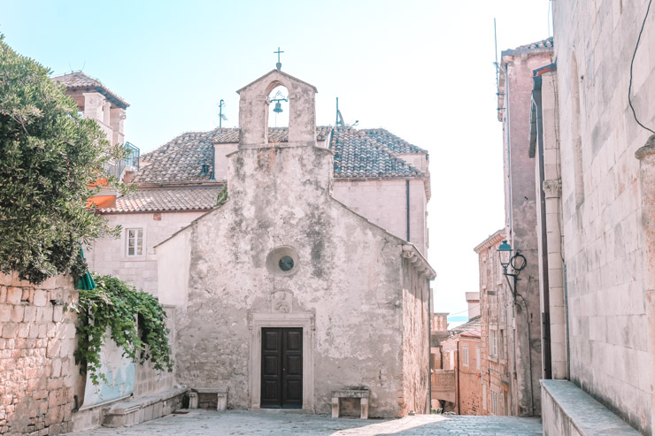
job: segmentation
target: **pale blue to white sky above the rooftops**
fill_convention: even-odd
[[[474,247],[504,226],[498,50],[549,36],[549,0],[0,0],[0,32],[53,73],[83,68],[127,100],[127,141],[155,149],[218,126],[224,99],[274,69],[319,89],[317,121],[384,127],[430,153],[435,310],[466,310]]]

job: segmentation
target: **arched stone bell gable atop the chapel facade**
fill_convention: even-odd
[[[268,144],[268,95],[278,86],[289,91],[289,146],[316,145],[317,89],[287,73],[273,70],[236,91],[239,94],[240,149]]]

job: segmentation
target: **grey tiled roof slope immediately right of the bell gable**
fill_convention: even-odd
[[[420,177],[422,172],[354,128],[335,129],[330,148],[335,153],[335,179]]]

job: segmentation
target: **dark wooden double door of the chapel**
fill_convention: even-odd
[[[261,407],[302,409],[303,329],[262,327]]]

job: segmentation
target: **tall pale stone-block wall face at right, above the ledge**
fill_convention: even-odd
[[[630,61],[648,1],[553,4],[571,379],[631,425],[651,433],[652,353],[636,149],[650,133],[628,106]],[[632,96],[655,126],[655,14],[637,51]],[[580,128],[570,120],[578,103]],[[577,130],[577,131],[576,131]],[[579,134],[582,162],[576,172]],[[582,178],[576,198],[575,179]],[[652,310],[652,306],[649,310]]]

